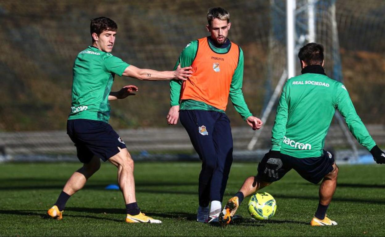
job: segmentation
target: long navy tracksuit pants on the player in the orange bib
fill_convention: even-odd
[[[233,136],[225,113],[204,110],[181,110],[181,124],[192,146],[202,160],[199,174],[199,206],[223,201],[224,191],[233,162]]]

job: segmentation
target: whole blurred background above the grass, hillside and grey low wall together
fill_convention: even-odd
[[[91,43],[90,19],[115,20],[115,56],[140,68],[172,70],[187,43],[208,35],[207,10],[218,6],[230,12],[229,38],[244,51],[243,93],[253,114],[261,118],[278,81],[285,79],[286,0],[0,0],[0,161],[67,155],[76,160],[65,126],[72,65]],[[295,9],[294,51],[311,41],[311,34],[325,46],[326,74],[342,80],[370,134],[385,145],[385,1],[296,0]],[[314,22],[313,33],[309,19]],[[299,75],[300,65],[295,63]],[[166,123],[169,82],[115,76],[113,90],[125,85],[139,86],[139,92],[111,102],[110,124],[134,156],[191,159],[181,156],[195,154],[186,131],[179,123],[172,127]],[[255,160],[270,148],[275,108],[249,152],[251,138],[258,134],[229,103],[226,113],[235,157]],[[336,157],[341,159],[357,161],[366,154],[373,162],[343,121],[333,119],[325,144],[326,149],[338,150]]]

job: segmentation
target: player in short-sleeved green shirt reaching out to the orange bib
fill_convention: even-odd
[[[109,18],[91,20],[90,33],[92,45],[75,59],[72,106],[67,121],[67,134],[75,143],[77,157],[83,166],[72,174],[48,214],[62,219],[66,202],[99,169],[102,159],[110,161],[118,169],[119,187],[126,204],[126,222],[161,223],[140,211],[135,197],[134,161],[124,141],[108,124],[109,101],[124,99],[137,91],[137,87],[125,86],[116,92],[111,92],[111,87],[115,74],[139,80],[186,80],[191,67],[178,66],[175,71],[140,69],[113,56],[110,52],[115,45],[117,25]]]

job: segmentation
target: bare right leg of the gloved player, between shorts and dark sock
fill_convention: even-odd
[[[338,167],[336,164],[333,164],[333,171],[327,174],[321,183],[320,186],[320,204],[327,206],[331,202],[334,192],[337,187],[337,176],[338,176]]]

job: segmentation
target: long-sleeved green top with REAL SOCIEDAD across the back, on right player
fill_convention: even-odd
[[[336,109],[357,141],[370,151],[376,144],[345,86],[316,73],[290,78],[283,87],[272,131],[272,150],[296,158],[320,157]]]

